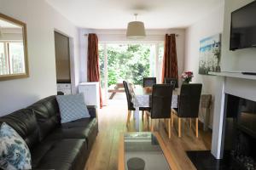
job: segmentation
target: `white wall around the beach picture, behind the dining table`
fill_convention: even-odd
[[[224,22],[224,4],[208,14],[203,19],[197,21],[186,30],[186,52],[184,59],[184,71],[193,71],[195,77],[193,82],[200,82],[203,84],[202,92],[212,94],[212,110],[210,116],[209,126],[212,127],[212,116],[214,108],[214,94],[215,94],[215,78],[212,76],[203,76],[198,74],[199,69],[199,48],[200,41],[205,37],[222,33]],[[201,121],[202,118],[200,117]]]

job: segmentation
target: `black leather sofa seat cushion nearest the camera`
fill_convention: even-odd
[[[88,150],[84,139],[46,139],[32,150],[32,168],[83,169]]]

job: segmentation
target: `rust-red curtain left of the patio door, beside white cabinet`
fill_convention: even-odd
[[[88,59],[87,59],[87,80],[88,82],[100,81],[98,37],[96,34],[88,35]],[[100,84],[100,107],[102,108],[102,90]]]

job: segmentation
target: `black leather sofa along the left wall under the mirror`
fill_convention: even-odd
[[[26,141],[32,169],[82,170],[98,133],[96,107],[87,106],[90,118],[61,124],[55,96],[26,109],[0,117]]]

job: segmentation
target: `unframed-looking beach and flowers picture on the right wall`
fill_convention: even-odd
[[[200,41],[199,74],[220,72],[221,34],[204,38]]]

